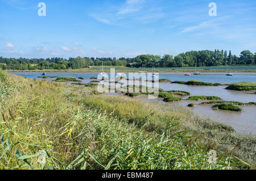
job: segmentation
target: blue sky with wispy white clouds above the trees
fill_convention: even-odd
[[[38,3],[46,16],[38,16]],[[210,2],[217,16],[209,16]],[[135,57],[256,52],[255,0],[0,0],[0,56]]]

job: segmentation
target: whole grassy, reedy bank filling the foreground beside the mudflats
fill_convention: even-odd
[[[0,169],[232,169],[255,158],[254,136],[187,108],[2,71],[0,90]]]

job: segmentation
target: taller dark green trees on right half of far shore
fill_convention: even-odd
[[[241,52],[240,57],[225,50],[202,50],[180,53],[173,57],[169,54],[163,57],[143,54],[135,58],[133,66],[137,68],[177,68],[192,66],[225,66],[225,65],[256,65],[256,53],[249,50]]]

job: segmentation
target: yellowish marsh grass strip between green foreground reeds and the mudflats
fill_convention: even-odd
[[[162,133],[166,127],[170,127],[172,132],[187,130],[187,134],[191,136],[204,135],[207,141],[203,138],[201,144],[213,144],[225,153],[229,153],[238,142],[243,140],[242,144],[237,146],[235,155],[249,163],[254,162],[255,136],[238,134],[227,125],[193,116],[193,112],[189,108],[171,104],[167,106],[164,103],[140,102],[114,96],[91,96],[84,99],[84,103],[92,109],[102,109],[106,112],[114,110],[112,112],[114,115],[125,117],[129,123],[140,120],[141,124],[139,125],[142,125],[148,121],[146,127],[144,126],[146,130]],[[218,141],[216,142],[216,140]]]

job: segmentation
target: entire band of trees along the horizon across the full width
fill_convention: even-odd
[[[44,70],[44,69],[82,69],[89,66],[127,66],[135,68],[178,68],[187,66],[225,66],[225,65],[256,65],[256,53],[249,50],[240,56],[225,50],[201,50],[180,53],[177,56],[166,54],[163,57],[142,54],[135,58],[3,58],[0,57],[0,68],[7,70]]]

